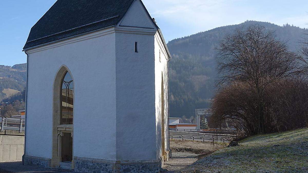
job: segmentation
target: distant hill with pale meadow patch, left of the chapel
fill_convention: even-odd
[[[0,101],[22,92],[26,86],[26,64],[0,65]]]

